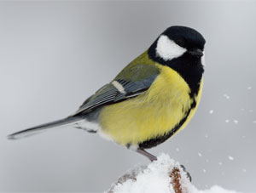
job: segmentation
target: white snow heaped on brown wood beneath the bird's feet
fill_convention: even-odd
[[[230,156],[231,157],[231,156]],[[176,173],[175,173],[175,172]],[[207,173],[206,169],[202,170]],[[174,173],[174,174],[173,174]],[[207,190],[198,190],[191,184],[187,173],[178,162],[166,154],[148,166],[137,166],[125,173],[106,193],[237,193],[213,185]]]

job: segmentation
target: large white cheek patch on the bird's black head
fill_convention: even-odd
[[[163,60],[172,60],[182,56],[187,49],[180,47],[177,43],[169,39],[169,37],[161,35],[157,41],[155,51],[156,55],[160,56]]]

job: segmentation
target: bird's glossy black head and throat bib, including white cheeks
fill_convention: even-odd
[[[148,48],[148,56],[160,65],[177,71],[189,84],[191,95],[198,93],[203,74],[205,39],[198,31],[185,26],[166,29]]]

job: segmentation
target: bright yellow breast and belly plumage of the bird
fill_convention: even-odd
[[[160,75],[147,92],[102,109],[102,133],[120,145],[138,145],[170,132],[193,102],[188,84],[176,71],[157,67]],[[191,111],[187,122],[193,114]]]

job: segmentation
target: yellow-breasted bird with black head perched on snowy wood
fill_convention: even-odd
[[[147,149],[187,126],[201,100],[206,40],[187,26],[170,26],[143,54],[70,116],[12,133],[21,139],[68,126],[99,133],[150,161]]]

